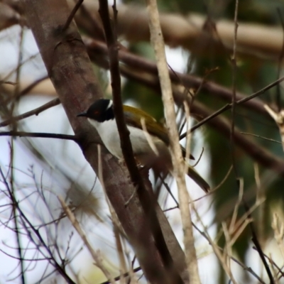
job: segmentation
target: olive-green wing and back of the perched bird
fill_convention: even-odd
[[[136,109],[135,107],[124,106],[124,116],[126,124],[137,127],[138,129],[142,129],[141,118],[145,119],[148,133],[160,138],[166,145],[169,145],[170,141],[165,127],[145,111]]]

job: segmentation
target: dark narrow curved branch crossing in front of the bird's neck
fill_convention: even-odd
[[[153,237],[155,239],[155,246],[160,253],[160,257],[162,258],[165,269],[161,269],[159,272],[155,271],[155,275],[158,275],[156,281],[158,283],[182,283],[182,279],[178,272],[175,271],[175,266],[173,263],[173,258],[170,256],[170,252],[168,250],[167,244],[165,243],[165,239],[163,236],[163,232],[160,228],[160,224],[158,222],[158,217],[155,213],[155,200],[153,200],[153,196],[149,194],[146,190],[145,185],[143,184],[143,180],[136,166],[136,161],[133,156],[133,149],[131,146],[131,141],[129,138],[129,129],[126,127],[125,119],[124,119],[124,109],[122,107],[122,99],[121,99],[121,80],[120,80],[120,71],[119,71],[119,56],[118,56],[118,48],[119,45],[116,40],[116,35],[114,33],[114,28],[111,27],[111,22],[109,19],[109,6],[106,0],[99,0],[99,14],[102,18],[102,23],[104,26],[104,33],[107,40],[108,47],[108,55],[109,55],[109,68],[111,72],[111,87],[113,92],[114,99],[114,114],[116,118],[117,128],[119,129],[119,138],[121,141],[121,150],[124,155],[124,160],[126,162],[126,166],[129,170],[129,174],[133,184],[137,187],[138,198],[141,202],[143,210],[147,217],[147,222],[151,227],[151,231]],[[116,6],[114,5],[114,18],[116,18],[117,11]],[[114,20],[116,22],[116,20]],[[143,230],[143,228],[141,228]],[[158,273],[157,273],[158,272]],[[170,274],[168,274],[170,273]],[[168,276],[166,276],[168,274]],[[147,275],[146,275],[147,276]],[[151,277],[153,277],[152,275]],[[169,277],[170,276],[170,277]],[[171,277],[174,277],[173,280]]]

